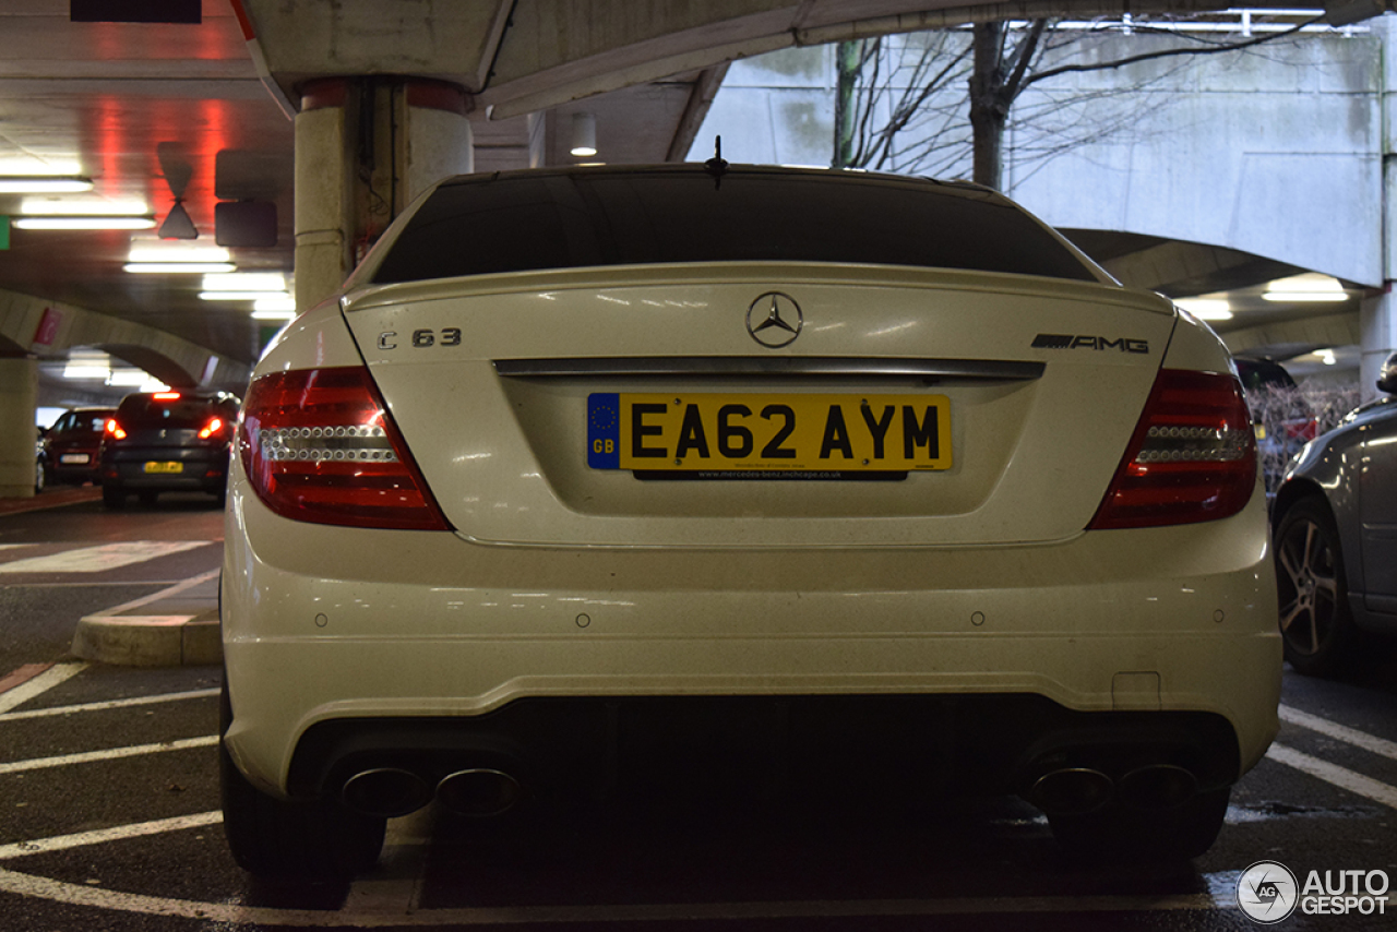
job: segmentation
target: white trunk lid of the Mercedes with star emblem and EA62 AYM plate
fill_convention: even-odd
[[[761,330],[773,300],[785,326]],[[398,284],[344,306],[447,520],[517,545],[1074,535],[1175,323],[1166,300],[1109,285],[760,263]],[[791,337],[793,320],[785,345],[759,342]],[[788,412],[799,432],[774,443]],[[743,430],[747,463],[760,447],[778,454],[771,468],[714,458],[740,453]]]

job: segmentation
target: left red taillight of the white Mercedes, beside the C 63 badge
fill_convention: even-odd
[[[450,530],[365,367],[254,379],[239,439],[247,478],[277,514],[319,524]]]

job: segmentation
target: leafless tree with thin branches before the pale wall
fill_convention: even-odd
[[[897,50],[882,38],[842,42],[835,57],[838,91],[833,165],[936,175],[968,155],[974,180],[999,189],[1004,131],[1016,103],[1028,88],[1073,73],[1238,52],[1292,36],[1312,22],[1315,20],[1280,32],[1222,42],[1147,24],[1134,25],[1134,32],[1168,35],[1175,43],[1111,60],[1087,60],[1078,54],[1084,41],[1094,34],[1060,29],[1053,20],[995,21],[975,24],[968,31],[919,34],[921,38]],[[1116,94],[1141,89],[1137,84]],[[1055,95],[1032,116],[1042,126],[1048,115],[1099,96],[1105,94]],[[1125,123],[1118,116],[1045,129],[1039,134],[1039,155],[1104,138]]]

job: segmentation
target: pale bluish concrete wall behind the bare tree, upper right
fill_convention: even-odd
[[[1055,226],[1227,246],[1380,286],[1383,32],[1305,34],[1053,78],[1016,105],[1006,191]],[[1074,54],[1109,60],[1165,45],[1176,42],[1112,34]],[[1035,112],[1073,127],[1060,137],[1074,140],[1067,151],[1041,154],[1051,140],[1023,120]],[[707,158],[721,134],[729,161],[828,165],[833,122],[833,48],[736,61],[690,158]],[[935,172],[968,176],[967,156],[963,145]]]

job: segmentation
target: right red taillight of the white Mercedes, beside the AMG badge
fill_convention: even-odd
[[[1256,488],[1256,436],[1227,373],[1161,369],[1091,530],[1236,514]]]

